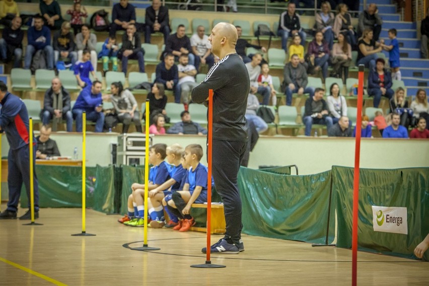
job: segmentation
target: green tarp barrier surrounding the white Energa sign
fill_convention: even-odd
[[[337,247],[351,248],[353,168],[332,167],[332,207],[337,208]],[[407,208],[408,235],[376,232],[372,205]],[[429,233],[429,168],[360,170],[360,250],[415,258],[414,248]],[[428,260],[426,251],[424,259]]]

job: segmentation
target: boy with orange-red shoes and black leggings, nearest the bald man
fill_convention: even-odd
[[[189,165],[187,178],[181,191],[172,194],[172,199],[167,203],[169,209],[182,220],[173,230],[188,231],[195,225],[195,220],[190,215],[192,204],[207,201],[207,167],[199,163],[203,155],[202,147],[191,144],[185,148],[185,162]],[[211,183],[211,182],[210,182]]]

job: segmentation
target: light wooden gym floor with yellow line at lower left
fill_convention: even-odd
[[[2,204],[2,209],[6,208]],[[19,215],[25,210],[21,209]],[[116,222],[88,209],[87,233],[79,208],[42,208],[36,223],[0,221],[0,285],[350,285],[351,250],[311,247],[304,242],[243,236],[245,251],[212,255],[219,269],[203,264],[205,234],[150,229],[149,246],[161,250],[132,251],[142,246],[143,228]],[[220,236],[212,236],[212,242]],[[359,285],[428,285],[429,264],[373,253],[358,253]]]

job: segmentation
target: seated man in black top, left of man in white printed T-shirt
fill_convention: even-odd
[[[168,36],[164,52],[173,54],[175,61],[179,60],[180,55],[187,54],[189,57],[189,64],[194,65],[195,55],[192,53],[191,41],[185,34],[184,25],[180,24],[177,26],[176,33]]]

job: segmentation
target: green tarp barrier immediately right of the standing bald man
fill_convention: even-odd
[[[330,179],[330,171],[290,176],[241,167],[238,186],[243,202],[243,232],[325,243]],[[328,241],[333,239],[332,229]]]

